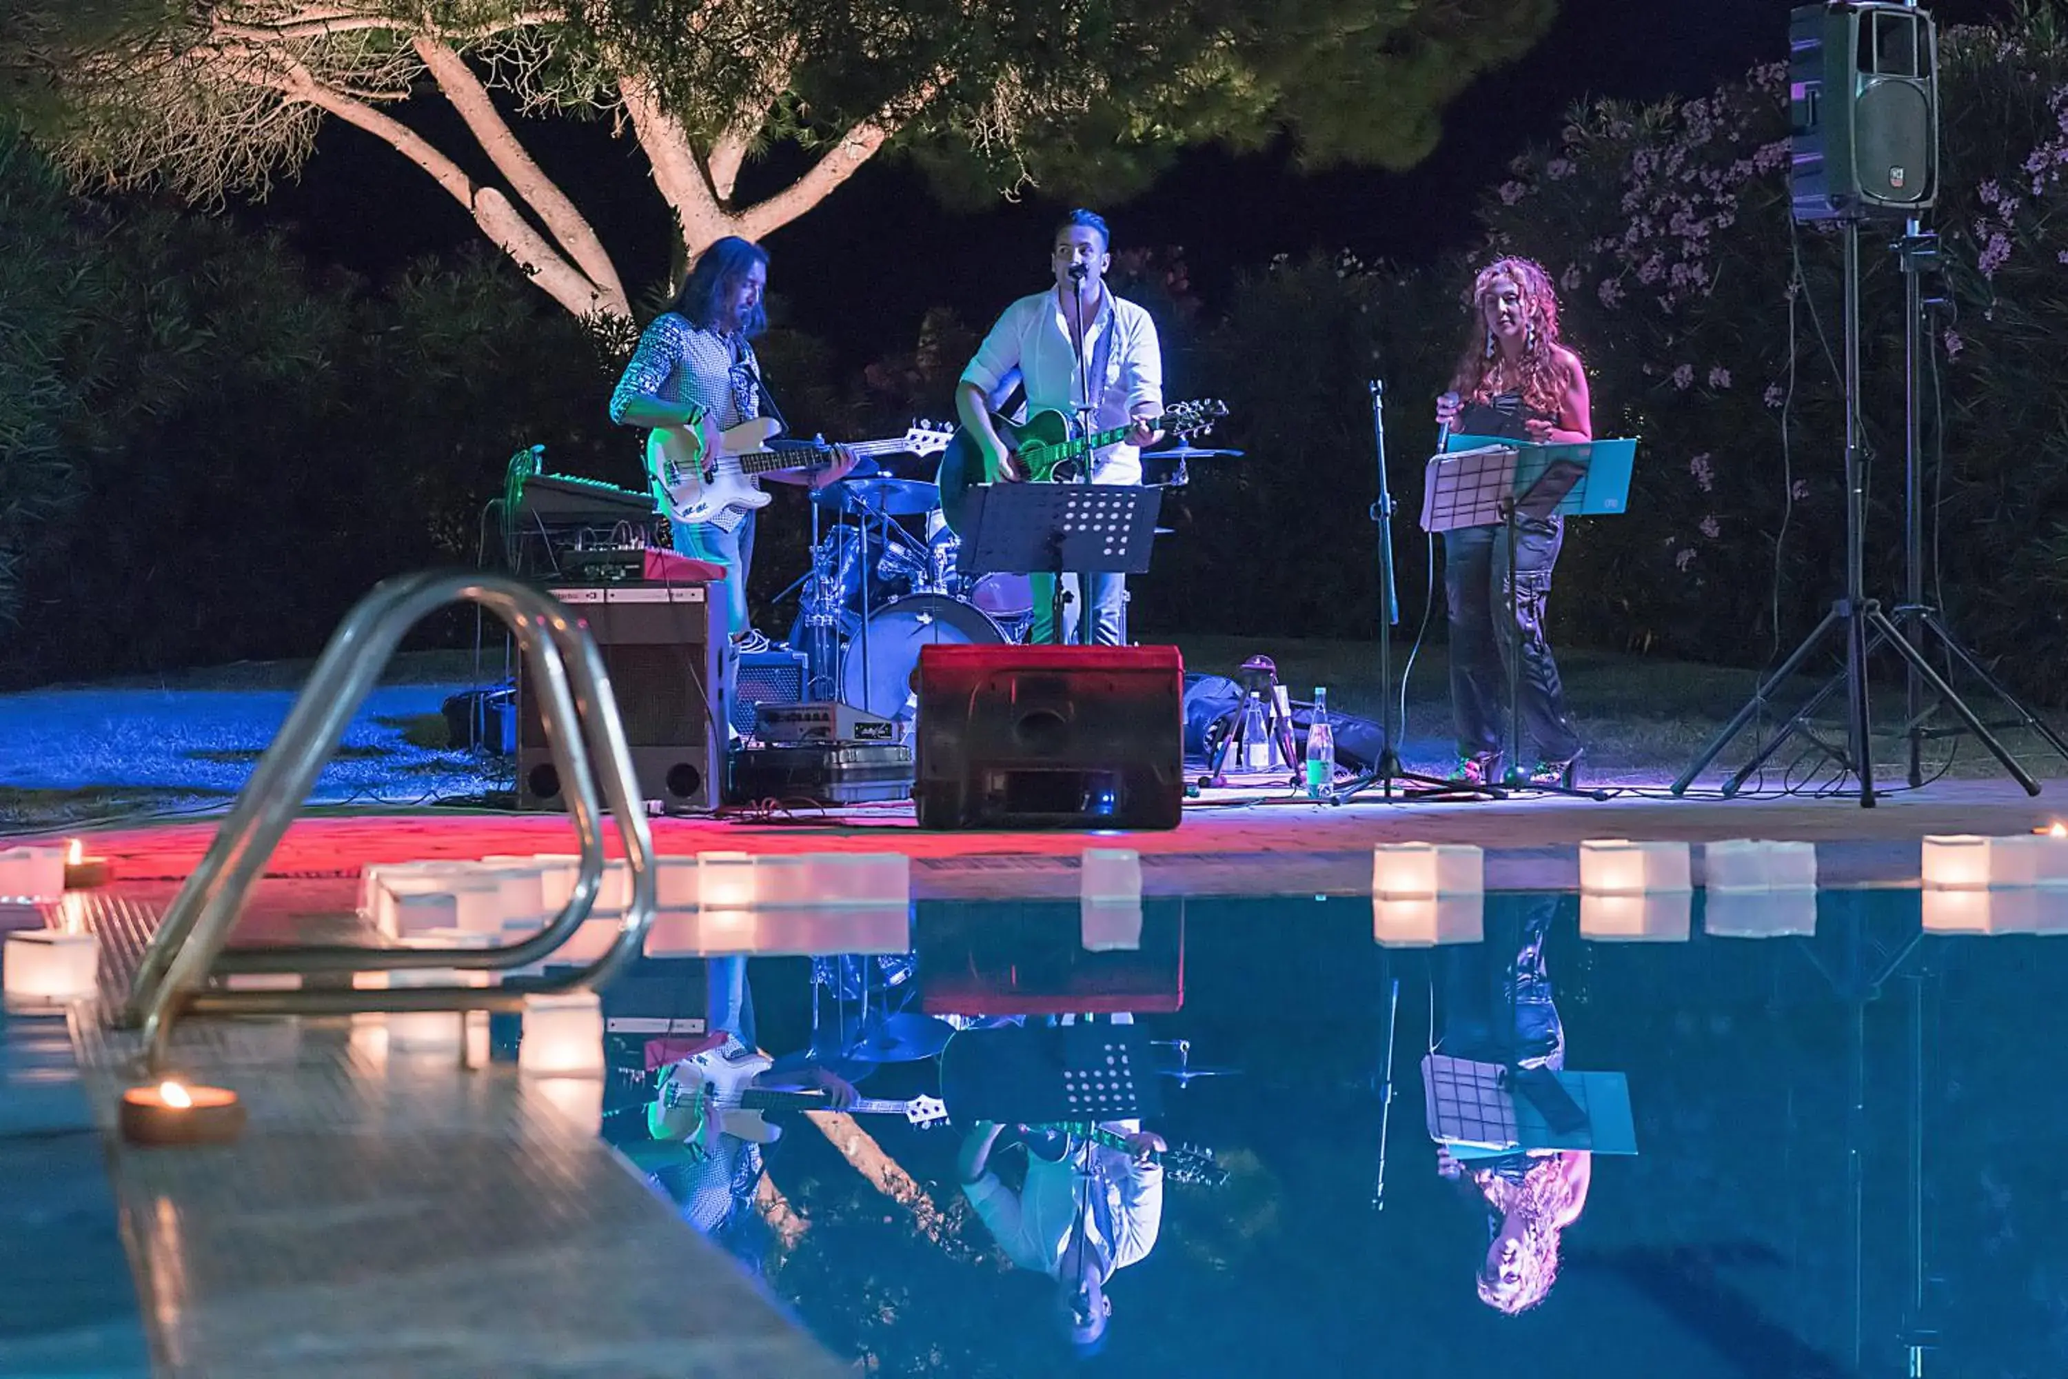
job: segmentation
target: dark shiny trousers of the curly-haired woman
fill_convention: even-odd
[[[1508,740],[1510,629],[1522,647],[1522,742],[1545,761],[1570,761],[1580,738],[1565,717],[1565,686],[1545,641],[1551,566],[1565,542],[1559,517],[1524,517],[1516,531],[1516,620],[1508,622],[1508,527],[1443,533],[1443,597],[1450,604],[1450,707],[1458,755],[1499,755]],[[1516,763],[1520,765],[1520,763]]]

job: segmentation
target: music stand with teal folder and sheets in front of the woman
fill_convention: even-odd
[[[1607,800],[1605,790],[1574,790],[1570,782],[1532,782],[1522,769],[1522,626],[1516,589],[1516,546],[1524,517],[1553,513],[1609,515],[1630,500],[1636,440],[1534,445],[1493,436],[1452,436],[1450,453],[1431,455],[1423,471],[1423,531],[1501,527],[1508,544],[1508,775],[1510,790],[1547,790]]]

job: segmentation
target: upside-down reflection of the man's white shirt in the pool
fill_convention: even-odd
[[[1139,1121],[1127,1125],[1139,1127]],[[1108,1129],[1121,1129],[1121,1125]],[[1098,1156],[1098,1181],[1082,1166],[1086,1154]],[[966,1183],[962,1191],[1007,1259],[1022,1269],[1055,1278],[1063,1267],[1063,1251],[1069,1249],[1069,1236],[1084,1207],[1079,1193],[1098,1191],[1100,1185],[1106,1191],[1117,1238],[1102,1238],[1098,1218],[1090,1209],[1082,1212],[1084,1230],[1106,1261],[1106,1278],[1113,1278],[1115,1269],[1125,1269],[1156,1249],[1156,1232],[1162,1230],[1160,1166],[1135,1164],[1127,1154],[1106,1145],[1086,1145],[1059,1162],[1030,1154],[1028,1181],[1017,1195],[999,1183],[995,1172]]]

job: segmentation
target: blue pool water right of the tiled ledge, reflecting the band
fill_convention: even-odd
[[[2056,906],[2068,928],[2068,897],[2025,926],[2054,926]],[[838,1052],[842,1009],[866,1023],[840,1001],[860,974],[869,1013],[910,1028],[1020,1013],[1055,1040],[1057,1011],[1127,1009],[1129,1040],[1162,1067],[1181,1040],[1202,1073],[1152,1077],[1146,1125],[1212,1147],[1226,1183],[1164,1183],[1154,1247],[1106,1284],[1094,1358],[1065,1342],[1057,1286],[1011,1267],[972,1212],[964,1125],[858,1118],[924,1189],[914,1209],[790,1118],[767,1183],[747,1160],[711,1234],[875,1375],[1785,1379],[1911,1373],[1909,1342],[1934,1346],[1923,1373],[2068,1373],[2068,1108],[2049,1075],[2068,941],[1923,934],[1917,891],[1822,891],[1814,937],[1719,939],[1704,918],[1698,895],[1690,941],[1601,943],[1578,897],[1501,893],[1477,945],[1386,949],[1365,899],[1150,899],[1139,934],[1077,903],[920,903],[912,955],[753,959],[759,1044],[802,1050],[817,1023]],[[701,963],[637,980],[641,1001],[674,980],[678,1009],[703,1007]],[[1638,1152],[1495,1160],[1489,1187],[1439,1176],[1421,1075],[1437,1038],[1621,1073]],[[864,1096],[941,1092],[937,1059],[846,1071]],[[622,1071],[620,1104],[641,1075]],[[606,1135],[637,1145],[639,1123],[608,1116]],[[1011,1187],[1028,1150],[993,1160]],[[1545,1166],[1563,1187],[1522,1216],[1576,1218],[1541,1305],[1506,1315],[1477,1284],[1489,1222],[1510,1220],[1487,1199]]]

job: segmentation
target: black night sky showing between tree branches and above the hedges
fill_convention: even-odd
[[[1940,23],[2008,8],[2008,0],[1929,6]],[[1350,248],[1415,263],[1472,238],[1481,188],[1522,147],[1555,134],[1588,95],[1698,95],[1754,62],[1787,52],[1787,0],[1563,0],[1545,39],[1483,79],[1448,114],[1437,153],[1408,174],[1334,170],[1303,176],[1290,149],[1233,157],[1185,155],[1137,201],[1102,207],[1125,244],[1187,250],[1193,283],[1216,298],[1230,275],[1286,250]],[[453,130],[424,126],[447,149]],[[602,232],[627,285],[668,265],[668,221],[637,145],[602,124],[542,124],[531,134]],[[749,167],[780,176],[782,167]],[[1057,207],[1040,198],[982,213],[947,213],[895,159],[877,159],[800,221],[769,236],[773,292],[790,323],[827,337],[848,366],[910,347],[920,314],[951,304],[980,327],[1005,300],[1038,285]],[[331,124],[296,184],[254,211],[287,225],[318,263],[385,273],[426,252],[476,242],[465,213],[424,174],[368,134]]]

